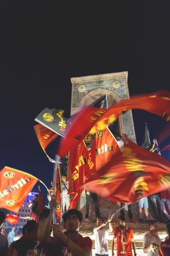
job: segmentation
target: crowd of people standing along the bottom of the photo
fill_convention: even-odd
[[[39,216],[38,223],[29,220],[23,227],[23,233],[9,237],[3,233],[5,214],[0,212],[0,256],[91,256],[93,242],[88,236],[81,236],[79,228],[82,226],[82,212],[70,209],[63,215],[63,225],[53,223],[53,207],[56,201],[51,199],[50,209],[44,209]],[[94,240],[96,256],[108,256],[108,236],[113,233],[112,256],[115,256],[115,241],[117,256],[137,256],[133,229],[129,227],[122,216],[118,217],[118,226],[111,224],[112,217],[106,221],[96,218]],[[108,228],[105,226],[108,225]],[[164,241],[159,238],[156,220],[148,222],[148,232],[143,238],[143,251],[147,256],[170,255],[170,223],[167,224],[167,236]],[[14,232],[14,228],[12,231]],[[12,240],[11,240],[12,241]],[[132,252],[133,248],[133,252]]]

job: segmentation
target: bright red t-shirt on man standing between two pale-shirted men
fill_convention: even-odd
[[[133,239],[133,230],[131,227],[125,226],[125,230],[123,230],[123,236],[125,238],[125,250],[126,253],[122,253],[122,230],[120,227],[116,227],[113,231],[113,236],[116,236],[117,245],[117,255],[124,255],[124,256],[132,256],[132,245],[131,239]]]

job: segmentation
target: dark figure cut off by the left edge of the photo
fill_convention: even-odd
[[[6,256],[8,251],[8,239],[1,234],[1,230],[5,224],[5,213],[0,211],[0,256]]]

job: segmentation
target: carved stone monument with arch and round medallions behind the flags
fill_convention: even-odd
[[[72,95],[71,95],[71,115],[77,113],[84,105],[90,105],[103,95],[107,95],[108,108],[115,103],[129,98],[129,90],[127,85],[127,72],[109,73],[95,76],[83,76],[71,78]],[[135,129],[133,125],[132,112],[129,111],[118,118],[119,134],[127,136],[136,143]],[[102,217],[107,218],[112,215],[120,204],[110,201],[106,198],[98,196],[99,211]],[[133,205],[134,218],[138,215],[136,205]],[[78,208],[85,212],[85,192],[79,200]],[[135,209],[136,208],[136,209]],[[119,213],[120,214],[120,213]],[[125,207],[125,215],[128,220],[127,207]],[[89,218],[95,219],[94,205],[91,204],[89,209]],[[138,218],[138,217],[137,217]]]

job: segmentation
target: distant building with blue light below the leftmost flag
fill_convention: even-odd
[[[31,215],[31,208],[28,207],[28,205],[30,204],[30,200],[33,201],[34,200],[34,195],[37,195],[38,193],[35,193],[35,192],[30,192],[28,194],[28,197],[26,198],[26,201],[23,203],[23,205],[21,206],[20,210],[18,213],[16,212],[10,212],[10,214],[14,214],[14,215],[17,215],[17,216],[20,216],[20,217],[26,217],[26,216],[30,216]],[[23,219],[23,218],[20,218],[19,221],[12,225],[14,227],[23,227],[26,223],[27,223],[28,219]],[[8,226],[10,226],[10,224],[8,224]]]

